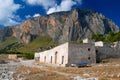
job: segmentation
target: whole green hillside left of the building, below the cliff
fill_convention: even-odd
[[[8,37],[0,43],[0,54],[18,54],[27,59],[34,58],[34,52],[44,51],[55,47],[50,36],[39,36],[29,44],[23,44],[15,37]]]

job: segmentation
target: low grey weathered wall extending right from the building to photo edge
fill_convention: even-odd
[[[96,56],[98,62],[106,58],[120,58],[120,47],[113,48],[110,45],[96,47]]]

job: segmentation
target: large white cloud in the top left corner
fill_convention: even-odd
[[[20,8],[19,4],[15,4],[14,0],[0,0],[0,24],[4,26],[16,25],[15,15],[16,11]]]

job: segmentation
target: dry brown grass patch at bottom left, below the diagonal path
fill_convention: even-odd
[[[59,75],[50,70],[25,66],[20,67],[16,73],[14,73],[14,78],[16,80],[20,78],[24,78],[25,80],[70,80],[67,76]]]

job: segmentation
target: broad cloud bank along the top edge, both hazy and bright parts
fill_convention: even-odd
[[[82,0],[62,0],[60,4],[56,0],[24,0],[29,5],[42,6],[47,14],[60,11],[68,11],[74,5],[82,4]]]

